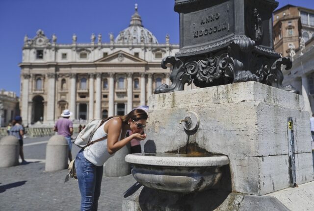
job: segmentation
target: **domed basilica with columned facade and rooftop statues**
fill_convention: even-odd
[[[160,66],[179,45],[159,44],[143,27],[137,12],[129,27],[103,43],[91,35],[90,43],[58,44],[38,30],[24,39],[21,67],[21,116],[25,124],[52,125],[64,109],[74,113],[75,123],[94,118],[125,115],[146,105],[148,96],[162,83],[170,84],[170,69]]]

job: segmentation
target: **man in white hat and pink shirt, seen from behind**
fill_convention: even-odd
[[[68,109],[63,110],[61,117],[59,118],[54,125],[54,131],[58,133],[58,135],[64,136],[65,139],[68,141],[69,145],[69,160],[72,161],[72,141],[71,136],[73,134],[73,123],[69,119],[69,117],[72,115],[72,112],[70,112]]]

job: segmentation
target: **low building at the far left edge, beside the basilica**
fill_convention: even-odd
[[[0,90],[0,127],[7,126],[18,115],[19,98],[14,92]]]

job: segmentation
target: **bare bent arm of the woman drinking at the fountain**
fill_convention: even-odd
[[[123,126],[122,124],[122,120],[117,118],[114,118],[110,122],[108,122],[107,150],[110,155],[124,147],[132,139],[144,140],[146,138],[145,135],[135,133],[121,141],[118,141]]]

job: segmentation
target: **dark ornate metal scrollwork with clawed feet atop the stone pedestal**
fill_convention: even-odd
[[[261,54],[255,50],[255,41],[246,36],[236,36],[226,50],[180,60],[173,56],[164,58],[161,67],[171,64],[172,84],[162,84],[155,94],[182,91],[184,84],[211,87],[236,82],[257,81],[289,92],[298,93],[293,87],[282,85],[284,76],[281,65],[290,69],[292,62],[287,57],[278,59],[276,54]]]

